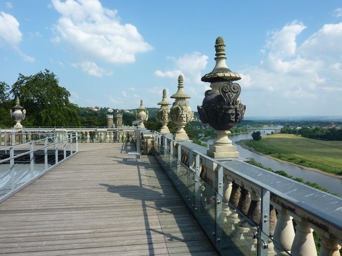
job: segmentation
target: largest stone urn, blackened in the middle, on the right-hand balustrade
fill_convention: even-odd
[[[209,123],[217,135],[207,154],[213,158],[238,158],[239,153],[228,138],[235,123],[241,122],[246,110],[239,98],[241,87],[235,80],[240,75],[232,72],[226,64],[224,39],[218,37],[215,43],[216,64],[214,70],[202,77],[202,81],[210,82],[211,90],[205,92],[202,106],[197,106],[199,118]]]

